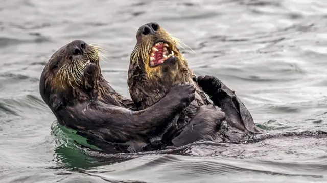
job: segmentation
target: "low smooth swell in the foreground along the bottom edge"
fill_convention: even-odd
[[[108,168],[108,171],[106,169]],[[116,182],[129,181],[158,181],[164,178],[166,181],[178,179],[183,182],[201,179],[216,179],[226,176],[228,182],[236,182],[237,178],[246,176],[267,176],[318,178],[324,177],[320,165],[306,163],[291,163],[277,161],[239,160],[218,157],[186,157],[176,155],[150,155],[126,162],[102,166],[91,171],[85,171],[88,175],[101,177]],[[113,171],[112,171],[113,170]],[[318,171],[317,171],[318,170]],[[127,175],[123,178],[122,175]],[[157,176],[153,176],[153,174]],[[169,175],[169,176],[168,176]],[[293,177],[293,178],[292,178]]]

